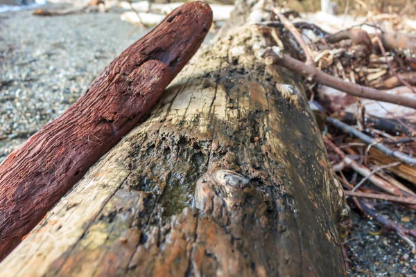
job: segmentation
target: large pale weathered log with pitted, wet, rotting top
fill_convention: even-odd
[[[263,12],[237,5],[238,24]],[[240,25],[191,60],[1,276],[345,276],[349,208],[302,83],[265,66],[271,39]]]

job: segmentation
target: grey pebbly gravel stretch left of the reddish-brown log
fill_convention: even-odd
[[[145,31],[118,13],[0,14],[0,161],[68,109],[105,66]],[[8,17],[4,19],[4,17]]]

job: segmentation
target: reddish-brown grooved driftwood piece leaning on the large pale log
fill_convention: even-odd
[[[0,260],[139,122],[196,53],[211,22],[206,3],[177,8],[1,163]]]

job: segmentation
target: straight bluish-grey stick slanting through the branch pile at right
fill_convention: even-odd
[[[347,134],[352,134],[356,136],[356,138],[361,139],[361,141],[364,141],[365,143],[372,145],[372,147],[380,150],[388,157],[394,157],[399,161],[407,163],[410,166],[416,165],[415,158],[410,157],[402,152],[391,150],[387,146],[383,145],[383,143],[379,143],[378,141],[376,141],[376,139],[373,139],[371,136],[367,136],[363,132],[358,131],[358,129],[355,129],[354,127],[351,127],[336,118],[327,118],[327,121],[331,123],[331,125],[338,127],[339,129],[342,129],[343,132]]]

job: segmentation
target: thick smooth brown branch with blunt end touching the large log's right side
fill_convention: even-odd
[[[389,102],[397,105],[402,105],[405,107],[410,107],[416,109],[416,99],[409,98],[406,96],[398,96],[393,94],[388,94],[378,89],[373,89],[371,87],[363,87],[359,84],[352,82],[345,82],[340,78],[333,77],[327,73],[316,69],[314,66],[300,62],[290,55],[283,53],[275,53],[275,60],[279,65],[302,74],[305,78],[311,77],[315,82],[320,84],[327,85],[333,89],[338,89],[344,91],[345,93],[351,94],[353,96],[358,96],[362,98],[379,100],[382,102]]]

